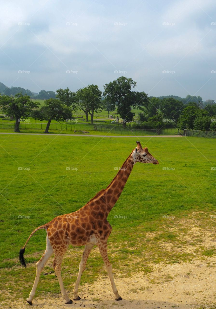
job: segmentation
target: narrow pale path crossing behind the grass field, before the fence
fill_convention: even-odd
[[[182,137],[182,135],[130,135],[130,136],[125,136],[125,135],[89,135],[89,134],[52,134],[52,133],[6,133],[6,132],[1,132],[0,134],[18,134],[18,135],[49,135],[49,136],[55,136],[55,135],[59,135],[59,136],[89,136],[89,137],[137,137],[137,138],[140,138],[140,137]]]

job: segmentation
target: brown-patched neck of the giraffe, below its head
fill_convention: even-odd
[[[128,180],[128,177],[131,174],[134,164],[135,161],[131,153],[127,160],[123,163],[122,167],[119,169],[117,175],[105,189],[103,193],[103,199],[106,202],[106,211],[108,213],[118,201]]]

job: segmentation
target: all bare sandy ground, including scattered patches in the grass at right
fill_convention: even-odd
[[[206,216],[206,220],[209,216]],[[199,223],[199,226],[197,225]],[[179,230],[179,226],[187,226],[187,232]],[[166,251],[172,253],[187,253],[194,256],[199,244],[202,248],[214,248],[216,243],[214,228],[209,228],[204,223],[199,222],[196,214],[191,218],[182,218],[180,221],[172,222],[170,232],[179,232],[179,240],[184,240],[186,244],[181,248],[175,242],[162,243]],[[184,230],[184,229],[183,229]],[[152,239],[160,234],[160,231],[146,233]],[[198,238],[199,242],[194,246],[189,246],[188,242]],[[179,243],[179,242],[178,242]],[[158,243],[160,244],[160,242]],[[93,250],[93,255],[97,258],[97,251]],[[149,253],[150,254],[150,253]],[[71,255],[67,252],[65,258]],[[44,309],[66,309],[66,308],[96,308],[96,309],[201,309],[216,308],[216,256],[196,255],[191,262],[180,262],[175,264],[148,264],[153,271],[151,273],[135,272],[131,277],[123,277],[122,274],[115,272],[113,265],[114,280],[118,293],[123,300],[117,302],[114,299],[108,275],[106,277],[98,274],[98,281],[94,284],[85,284],[79,287],[80,301],[73,301],[73,304],[66,305],[61,294],[40,293],[40,296],[33,299],[32,307]],[[147,257],[147,255],[146,255]],[[145,257],[143,257],[145,258]],[[142,259],[143,259],[142,258]],[[50,266],[52,262],[50,262]],[[87,271],[87,270],[86,270]],[[57,280],[57,278],[56,278]],[[63,278],[64,280],[64,278]],[[29,286],[29,291],[32,286]],[[66,287],[67,288],[67,287]],[[4,291],[6,296],[7,291]],[[73,298],[73,291],[67,290],[69,298]],[[31,308],[22,298],[16,302],[7,297],[8,306],[1,308]]]

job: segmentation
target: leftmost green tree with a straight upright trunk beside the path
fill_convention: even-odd
[[[16,120],[14,132],[20,132],[20,119],[27,118],[33,111],[33,108],[38,107],[38,105],[39,103],[33,102],[29,95],[22,95],[22,93],[17,93],[15,97],[8,95],[0,96],[2,111]]]

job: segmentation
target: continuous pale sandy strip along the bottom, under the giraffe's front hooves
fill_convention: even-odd
[[[206,261],[193,260],[191,263],[173,265],[158,264],[154,271],[144,275],[137,273],[130,278],[115,275],[116,286],[123,300],[117,302],[111,290],[109,278],[98,280],[92,286],[80,287],[80,301],[64,304],[64,299],[58,295],[47,295],[46,298],[33,299],[32,307],[37,308],[100,308],[110,309],[123,307],[125,309],[153,308],[216,308],[216,258],[206,258]],[[163,279],[162,279],[163,278]],[[67,291],[70,298],[72,291]],[[8,308],[30,308],[23,300],[11,303]]]

